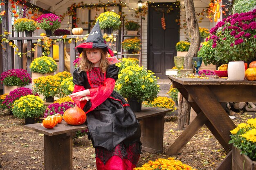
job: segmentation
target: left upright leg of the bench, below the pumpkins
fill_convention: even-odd
[[[44,135],[45,170],[72,170],[72,134]]]

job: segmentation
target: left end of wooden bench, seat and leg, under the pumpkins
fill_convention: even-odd
[[[46,129],[41,124],[27,124],[24,127],[44,134],[45,170],[72,170],[72,132],[85,130],[87,126],[68,125],[64,120],[53,129]]]

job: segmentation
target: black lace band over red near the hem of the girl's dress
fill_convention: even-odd
[[[121,142],[110,151],[103,147],[95,147],[95,153],[96,157],[101,159],[104,164],[106,164],[108,159],[112,156],[118,156],[121,159],[128,159],[132,164],[136,165],[141,153],[141,142],[135,142],[128,147]]]

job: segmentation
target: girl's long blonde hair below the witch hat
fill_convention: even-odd
[[[98,49],[101,52],[101,61],[99,64],[99,68],[101,69],[101,72],[106,72],[109,62],[108,59],[106,59],[107,57],[107,51],[105,48],[84,48],[83,49],[83,53],[82,53],[82,57],[79,61],[79,69],[78,72],[81,71],[91,71],[93,68],[93,63],[91,61],[88,60],[87,56],[86,56],[86,51],[94,51],[95,49]]]

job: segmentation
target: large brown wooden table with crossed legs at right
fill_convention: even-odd
[[[236,125],[220,102],[256,102],[256,81],[229,81],[226,78],[213,77],[202,79],[168,76],[168,78],[198,115],[168,148],[166,154],[177,155],[204,124],[225,150],[231,150],[230,131]],[[231,152],[217,169],[231,169]]]

